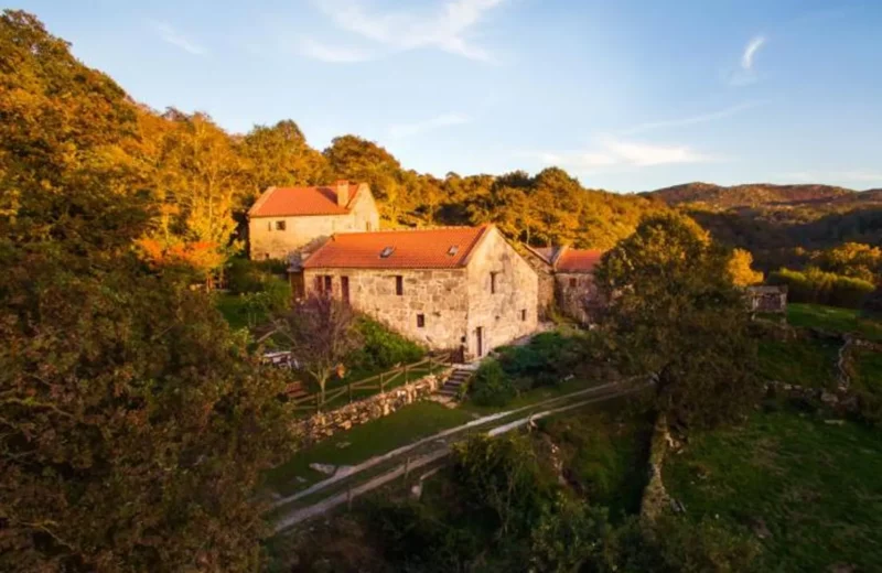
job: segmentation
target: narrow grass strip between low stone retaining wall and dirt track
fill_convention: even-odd
[[[267,485],[281,495],[289,495],[327,477],[311,469],[312,463],[355,465],[473,419],[471,413],[459,409],[418,402],[298,452],[268,473]],[[304,482],[299,482],[298,477]]]

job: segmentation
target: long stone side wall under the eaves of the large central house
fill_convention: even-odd
[[[306,269],[303,274],[308,293],[315,291],[316,275],[330,275],[334,296],[341,295],[341,277],[348,277],[353,307],[429,348],[456,349],[466,334],[465,269]],[[399,275],[401,295],[395,288]]]

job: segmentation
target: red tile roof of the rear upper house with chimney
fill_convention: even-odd
[[[346,215],[359,185],[349,183],[349,201],[337,205],[334,185],[316,187],[270,187],[257,199],[248,215],[251,217],[287,217],[297,215]]]

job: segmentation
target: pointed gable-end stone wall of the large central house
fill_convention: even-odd
[[[490,229],[475,247],[466,272],[467,357],[477,356],[477,328],[482,331],[484,355],[536,331],[538,277],[496,228]],[[495,279],[491,279],[492,274]]]

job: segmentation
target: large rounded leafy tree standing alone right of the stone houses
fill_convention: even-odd
[[[652,407],[670,423],[733,420],[757,396],[755,344],[729,260],[695,221],[668,214],[644,220],[595,271],[613,350],[656,374]]]

